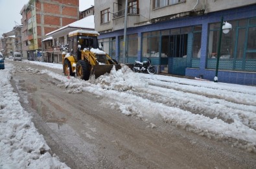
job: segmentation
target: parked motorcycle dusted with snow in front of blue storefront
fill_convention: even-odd
[[[156,69],[151,65],[151,60],[150,58],[146,58],[147,61],[144,62],[139,62],[135,60],[134,64],[134,72],[139,72],[139,73],[149,73],[149,74],[155,74]]]

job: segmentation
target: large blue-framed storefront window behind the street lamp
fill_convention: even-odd
[[[232,29],[222,33],[219,69],[256,71],[255,18],[227,21]],[[211,23],[208,34],[207,69],[215,69],[220,23]]]

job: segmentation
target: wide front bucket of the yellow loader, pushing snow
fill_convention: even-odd
[[[130,69],[133,68],[133,64],[127,64]],[[111,69],[113,68],[113,65],[94,65],[93,66],[93,73],[95,74],[95,78],[99,78],[99,76],[105,74],[105,73],[110,73]],[[115,70],[121,69],[121,65],[117,64],[115,65]]]

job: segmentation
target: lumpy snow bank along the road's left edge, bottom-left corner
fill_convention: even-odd
[[[0,168],[69,168],[49,153],[49,146],[10,85],[8,64],[7,68],[0,71]]]

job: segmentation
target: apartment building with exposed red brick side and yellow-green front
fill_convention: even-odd
[[[43,55],[45,34],[79,18],[79,0],[29,0],[21,9],[23,56],[37,60]]]

